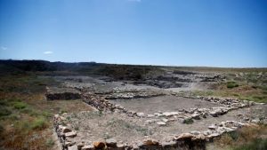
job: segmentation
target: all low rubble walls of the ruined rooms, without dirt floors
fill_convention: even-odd
[[[67,92],[68,93],[68,92]],[[135,95],[134,95],[135,94]],[[136,95],[137,94],[137,95]],[[168,122],[181,122],[188,123],[194,122],[194,120],[206,119],[207,116],[218,117],[223,114],[227,114],[232,110],[237,110],[244,107],[251,107],[254,105],[263,105],[261,103],[255,103],[247,100],[239,99],[219,99],[219,98],[206,98],[197,97],[190,99],[201,99],[211,103],[218,103],[223,107],[211,107],[211,108],[190,108],[181,109],[176,112],[159,112],[154,114],[144,114],[142,112],[134,112],[133,110],[127,110],[121,105],[110,102],[109,99],[135,99],[135,98],[149,98],[155,97],[160,94],[144,93],[144,92],[131,92],[131,93],[113,93],[106,96],[97,95],[89,91],[75,91],[74,93],[66,94],[49,91],[46,94],[47,99],[83,99],[85,103],[96,108],[101,112],[116,112],[118,114],[125,114],[129,118],[143,118],[149,119],[146,122],[156,123],[158,126],[166,126]],[[67,95],[67,96],[66,96]],[[173,94],[176,96],[175,94]],[[208,130],[192,130],[190,132],[181,133],[179,135],[173,135],[166,141],[159,141],[154,138],[144,138],[142,141],[136,141],[133,145],[127,143],[119,143],[115,138],[107,138],[93,142],[76,142],[72,138],[77,136],[77,131],[70,126],[62,123],[66,120],[68,114],[55,114],[54,128],[60,139],[63,150],[93,150],[93,149],[141,149],[141,150],[171,150],[171,149],[206,149],[206,142],[212,141],[214,138],[220,137],[223,133],[232,132],[238,130],[243,126],[256,126],[260,120],[245,120],[244,122],[226,121],[219,124],[210,124]],[[160,120],[160,117],[164,116],[166,120]],[[266,118],[265,118],[266,119]],[[150,122],[149,122],[150,121]]]

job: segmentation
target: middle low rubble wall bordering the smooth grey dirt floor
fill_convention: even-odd
[[[211,107],[211,108],[190,108],[181,109],[176,112],[158,112],[154,114],[144,114],[142,112],[135,112],[133,110],[127,110],[121,105],[111,103],[104,97],[87,92],[82,96],[85,103],[97,108],[99,111],[111,111],[125,113],[129,117],[145,117],[149,118],[148,122],[156,122],[159,125],[166,125],[167,122],[180,121],[182,123],[192,123],[194,120],[206,119],[206,117],[218,117],[223,114],[227,114],[231,110],[236,110],[243,107],[250,107],[255,105],[255,102],[241,101],[238,99],[218,99],[218,98],[198,98],[209,102],[224,104],[223,107]],[[196,98],[195,98],[196,99]],[[164,120],[158,118],[165,117]],[[154,121],[153,121],[154,119]]]

